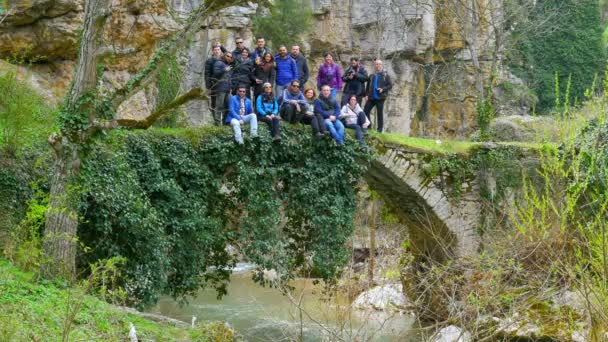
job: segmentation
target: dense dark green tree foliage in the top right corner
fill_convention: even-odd
[[[556,16],[556,12],[559,15]],[[513,35],[519,37],[519,44],[510,56],[511,69],[537,93],[538,112],[546,112],[566,101],[581,101],[593,75],[600,73],[605,65],[598,2],[545,0],[538,2],[529,15],[529,20],[538,27],[542,27],[548,17],[559,23],[555,29],[537,35],[516,29]],[[560,99],[558,94],[566,93],[564,85],[569,77],[568,99]]]

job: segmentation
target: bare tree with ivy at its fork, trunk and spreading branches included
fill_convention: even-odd
[[[112,16],[111,3],[110,0],[85,2],[76,73],[61,108],[59,131],[48,138],[56,156],[43,243],[46,261],[42,265],[42,273],[49,276],[73,278],[76,271],[78,200],[75,193],[79,187],[79,172],[87,162],[86,153],[93,138],[100,132],[120,126],[148,128],[172,109],[199,97],[201,90],[191,89],[183,94],[174,94],[143,120],[117,120],[115,117],[123,102],[158,81],[167,61],[188,44],[210,15],[244,1],[204,1],[193,10],[184,28],[164,42],[139,73],[123,87],[104,93],[98,87],[99,66],[103,66],[112,55],[132,52],[118,51],[104,43],[105,23]]]

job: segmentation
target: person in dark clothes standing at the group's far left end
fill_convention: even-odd
[[[215,83],[211,89],[217,95],[216,108],[213,111],[213,121],[216,126],[221,126],[224,123],[224,118],[228,111],[228,98],[230,97],[233,70],[234,61],[232,52],[226,52],[221,60],[213,64],[212,78]]]

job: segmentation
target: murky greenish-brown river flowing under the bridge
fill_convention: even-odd
[[[322,285],[311,279],[296,279],[293,301],[302,298],[300,310],[274,288],[251,280],[251,265],[240,264],[231,277],[228,295],[217,300],[212,289],[202,290],[185,306],[163,297],[148,312],[190,323],[225,321],[247,341],[403,341],[411,339],[413,318],[407,314],[351,309],[346,298],[324,299]],[[249,269],[249,270],[248,270]],[[408,338],[410,336],[410,338]]]

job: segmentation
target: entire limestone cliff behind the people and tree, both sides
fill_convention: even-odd
[[[108,60],[103,84],[124,84],[147,62],[160,39],[182,27],[191,6],[199,2],[114,0],[106,40],[116,49],[134,53]],[[476,19],[457,3],[313,0],[316,23],[303,47],[310,57],[311,81],[325,51],[334,52],[343,66],[351,56],[359,56],[368,71],[373,69],[373,58],[380,57],[395,80],[386,105],[387,131],[435,137],[471,133],[479,82],[486,87],[492,67],[500,70],[500,54],[494,51],[488,19],[494,13],[488,10],[491,2],[476,1],[483,5]],[[82,7],[83,0],[9,1],[8,15],[0,23],[0,57],[24,64],[32,76],[22,78],[38,83],[38,88],[50,86],[44,93],[55,102],[69,86]],[[188,51],[178,56],[184,69],[182,88],[202,85],[212,40],[233,49],[234,37],[239,35],[247,46],[253,46],[251,18],[258,13],[257,5],[247,3],[211,18],[193,37]],[[481,20],[480,15],[487,18]],[[156,94],[155,89],[142,90],[121,107],[121,116],[149,112]],[[207,108],[207,101],[193,101],[185,112],[192,124],[204,124],[211,121]]]

